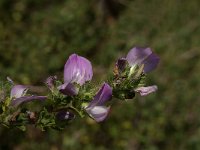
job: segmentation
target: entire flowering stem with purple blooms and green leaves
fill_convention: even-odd
[[[46,96],[33,95],[29,86],[14,84],[8,78],[5,86],[9,85],[10,91],[0,89],[0,122],[20,129],[34,124],[42,130],[63,129],[76,116],[89,116],[101,122],[108,116],[113,98],[132,99],[135,93],[146,96],[157,90],[156,85],[145,86],[145,79],[158,63],[159,57],[150,48],[134,47],[126,57],[118,59],[112,78],[98,88],[91,84],[90,61],[72,54],[64,66],[63,82],[57,76],[47,78]],[[28,105],[34,101],[42,102],[37,109]]]

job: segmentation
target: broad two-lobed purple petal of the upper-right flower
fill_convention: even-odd
[[[144,73],[148,73],[155,69],[160,58],[151,51],[150,48],[134,47],[126,56],[130,66],[144,64]]]

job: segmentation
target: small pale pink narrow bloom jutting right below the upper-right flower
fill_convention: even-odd
[[[146,96],[152,92],[155,92],[158,90],[158,87],[156,85],[147,86],[147,87],[139,87],[135,89],[135,92],[139,92],[141,96]]]

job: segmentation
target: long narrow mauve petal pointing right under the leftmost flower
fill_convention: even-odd
[[[20,104],[31,102],[33,100],[44,101],[47,99],[47,96],[22,96],[16,99],[13,99],[11,102],[11,106],[19,106]]]

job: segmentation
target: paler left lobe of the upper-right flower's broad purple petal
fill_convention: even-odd
[[[150,48],[134,47],[126,56],[126,59],[130,66],[135,64],[141,64],[147,57],[152,54]]]

